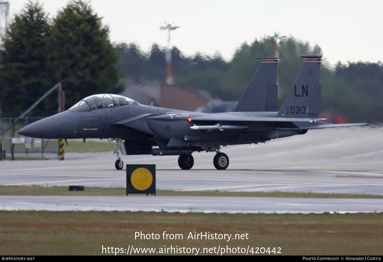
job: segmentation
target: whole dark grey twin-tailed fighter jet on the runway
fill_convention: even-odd
[[[234,112],[198,113],[140,103],[120,95],[84,98],[67,111],[29,124],[23,136],[45,139],[105,138],[115,140],[116,169],[123,169],[119,154],[179,156],[181,169],[191,169],[192,153],[216,152],[213,164],[226,169],[229,157],[221,146],[265,142],[306,134],[309,129],[360,124],[329,124],[321,113],[319,69],[321,55],[306,58],[298,77],[278,111],[275,57],[262,60]],[[67,143],[68,144],[68,143]],[[158,146],[159,148],[153,148]]]

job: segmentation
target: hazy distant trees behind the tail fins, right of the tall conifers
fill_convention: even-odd
[[[278,42],[279,59],[279,104],[291,88],[305,59],[302,54],[322,54],[316,44],[289,36]],[[144,52],[135,43],[120,43],[118,68],[123,77],[142,80],[165,79],[165,47],[153,44]],[[196,53],[185,56],[173,47],[172,64],[177,85],[191,87],[209,93],[214,98],[226,101],[239,100],[252,79],[262,59],[274,57],[275,40],[270,37],[243,43],[237,48],[231,61],[219,54],[208,56]],[[383,123],[383,64],[373,62],[338,63],[335,67],[322,61],[322,112],[332,121],[340,118],[344,122]]]

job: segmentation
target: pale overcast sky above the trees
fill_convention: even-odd
[[[10,13],[27,0],[10,0]],[[51,15],[67,0],[41,0]],[[383,61],[383,1],[371,0],[92,0],[93,10],[110,27],[113,42],[136,42],[147,51],[152,43],[167,44],[164,21],[180,26],[172,45],[186,54],[220,52],[230,59],[244,41],[272,35],[293,35],[324,57],[337,61]]]

